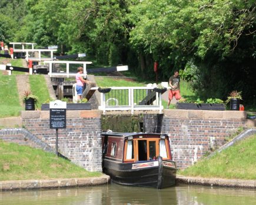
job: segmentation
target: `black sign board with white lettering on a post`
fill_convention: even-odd
[[[66,109],[50,109],[50,129],[66,128]]]

